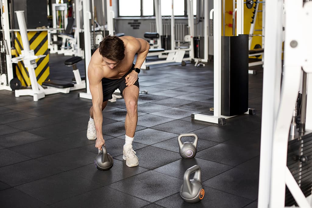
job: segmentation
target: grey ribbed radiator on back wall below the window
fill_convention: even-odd
[[[171,35],[171,24],[163,23],[163,35]],[[150,32],[156,32],[156,23],[150,23]],[[184,36],[188,35],[188,25],[186,23],[174,24],[175,37],[174,40],[184,42]]]

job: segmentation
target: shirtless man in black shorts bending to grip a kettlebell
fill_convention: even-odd
[[[132,148],[134,133],[138,122],[138,74],[147,53],[149,43],[131,36],[106,36],[91,57],[88,67],[92,107],[88,122],[87,138],[96,139],[95,147],[102,148],[105,140],[102,134],[102,111],[107,101],[112,99],[116,89],[124,97],[127,114],[124,122],[126,130],[123,159],[128,167],[139,165],[139,159]],[[135,64],[134,56],[137,55]]]

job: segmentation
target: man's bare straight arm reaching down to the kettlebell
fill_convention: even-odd
[[[89,87],[92,96],[92,106],[93,106],[93,119],[95,123],[96,136],[95,147],[98,149],[102,148],[105,144],[102,133],[103,115],[102,115],[102,104],[103,104],[103,89],[102,80],[100,77],[101,70],[96,70],[96,68],[88,67],[88,78]]]

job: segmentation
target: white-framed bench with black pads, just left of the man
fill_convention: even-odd
[[[82,58],[79,56],[71,57],[70,59],[67,59],[64,63],[66,66],[72,66],[73,67],[73,73],[75,76],[75,84],[72,82],[62,81],[62,80],[48,80],[45,82],[42,82],[42,86],[45,86],[47,89],[50,89],[51,93],[53,94],[57,92],[61,93],[69,93],[71,90],[77,90],[77,89],[84,89],[85,88],[85,80],[81,79],[79,69],[76,66],[76,63],[81,61]]]

